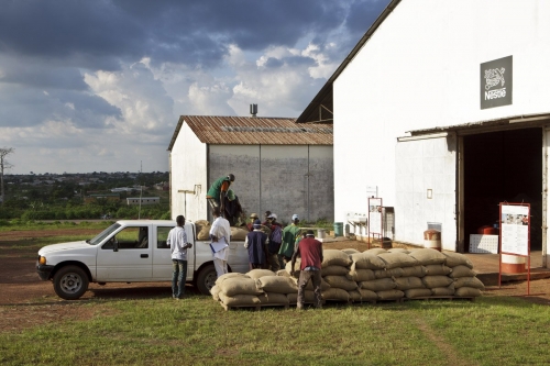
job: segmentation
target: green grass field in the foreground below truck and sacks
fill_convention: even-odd
[[[2,365],[548,365],[550,308],[504,297],[224,311],[209,297],[91,300],[0,333]],[[21,309],[25,311],[25,309]]]

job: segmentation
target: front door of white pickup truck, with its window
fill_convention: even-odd
[[[124,226],[101,245],[97,280],[151,280],[153,274],[152,225]]]

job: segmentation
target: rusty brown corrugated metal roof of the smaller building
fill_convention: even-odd
[[[332,145],[332,124],[296,123],[296,119],[261,117],[182,115],[168,151],[183,124],[205,144]]]

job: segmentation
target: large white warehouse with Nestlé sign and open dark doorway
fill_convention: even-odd
[[[437,225],[468,252],[499,202],[529,203],[546,266],[549,45],[550,1],[391,1],[298,118],[333,122],[336,221],[377,196],[387,236]]]

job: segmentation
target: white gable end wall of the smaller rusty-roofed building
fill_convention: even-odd
[[[172,219],[175,220],[179,214],[193,221],[206,219],[207,146],[187,123],[182,125],[172,147],[170,159]]]

